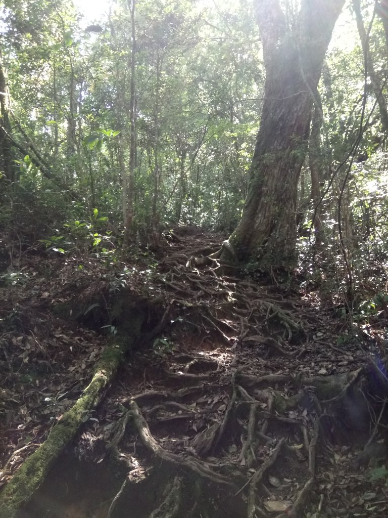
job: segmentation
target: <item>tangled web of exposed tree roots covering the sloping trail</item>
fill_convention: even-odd
[[[314,339],[307,310],[250,281],[219,278],[217,253],[203,262],[191,255],[161,261],[156,277],[168,308],[147,339],[168,328],[168,350],[148,352],[141,383],[128,367],[110,401],[128,411],[108,445],[126,472],[108,518],[128,508],[133,518],[314,516],[338,482],[327,477],[326,449],[331,462],[342,455],[339,466],[363,469],[368,449],[351,463],[350,434],[372,445],[384,437],[385,374],[373,362],[336,370],[343,353]],[[384,455],[380,448],[375,460]]]

